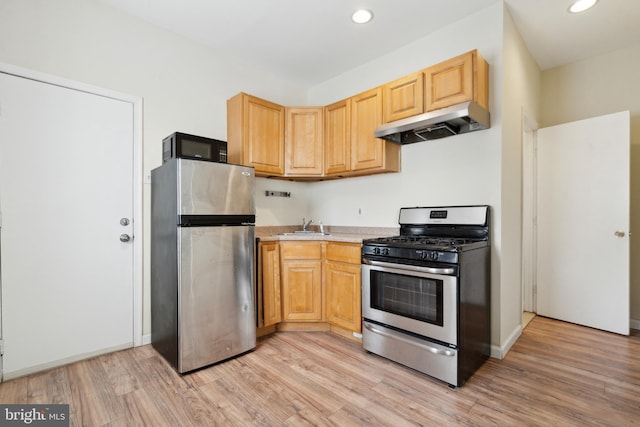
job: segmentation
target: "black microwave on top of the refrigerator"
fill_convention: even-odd
[[[174,132],[162,140],[162,163],[173,158],[227,163],[227,143],[203,136]]]

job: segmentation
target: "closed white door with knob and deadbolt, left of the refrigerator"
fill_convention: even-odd
[[[0,108],[5,378],[132,346],[132,103],[0,73]]]

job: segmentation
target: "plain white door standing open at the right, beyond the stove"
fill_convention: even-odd
[[[538,314],[629,334],[629,112],[538,131]]]

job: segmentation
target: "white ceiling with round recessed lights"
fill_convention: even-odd
[[[309,85],[502,0],[96,0]],[[541,69],[640,44],[640,0],[505,0]],[[370,9],[356,25],[351,13]]]

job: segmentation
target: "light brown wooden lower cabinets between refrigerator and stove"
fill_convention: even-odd
[[[260,243],[258,326],[361,332],[360,250],[359,243]]]

